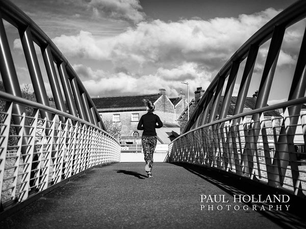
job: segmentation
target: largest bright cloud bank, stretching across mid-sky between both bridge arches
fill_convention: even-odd
[[[98,5],[102,1],[90,3]],[[277,13],[279,11],[267,9],[238,18],[208,21],[142,21],[109,38],[81,31],[76,36],[62,35],[53,40],[65,55],[110,60],[115,68],[124,67],[129,71],[146,64],[167,66],[180,62],[201,63],[206,69],[217,70]]]

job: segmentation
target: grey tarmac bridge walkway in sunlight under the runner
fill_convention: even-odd
[[[6,218],[0,228],[305,228],[284,206],[264,211],[234,203],[233,194],[256,193],[254,187],[220,173],[160,162],[152,174],[146,178],[140,162],[95,167]],[[228,203],[201,203],[201,195],[221,195]]]

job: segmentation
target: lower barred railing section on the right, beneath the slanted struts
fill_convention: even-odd
[[[295,101],[298,104],[305,102],[306,98]],[[303,196],[306,194],[306,112],[300,113],[294,125],[286,123],[293,117],[264,116],[266,111],[288,106],[288,103],[261,108],[260,112],[253,110],[191,130],[171,142],[169,161],[203,164]],[[259,125],[251,119],[254,113],[260,116]],[[237,119],[240,122],[237,123]],[[284,137],[282,128],[292,127],[296,132],[285,136],[299,139],[299,144],[280,141]],[[288,150],[284,151],[283,146]]]

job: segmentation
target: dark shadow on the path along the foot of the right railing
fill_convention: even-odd
[[[257,183],[249,180],[248,178],[237,177],[235,174],[225,174],[223,171],[216,171],[210,168],[192,165],[185,163],[173,163],[175,165],[184,167],[191,173],[197,175],[198,177],[216,185],[220,189],[224,190],[228,194],[234,196],[243,195],[254,195],[262,196],[262,199],[266,199],[268,195],[272,196],[279,194],[288,194],[287,192],[282,192],[281,190],[276,190],[272,187],[268,187],[264,184]],[[214,194],[214,193],[212,193]],[[306,221],[304,219],[304,206],[306,205],[305,199],[299,198],[297,196],[290,194],[290,202],[283,203],[243,203],[249,206],[250,209],[256,206],[256,210],[263,216],[269,218],[273,222],[277,223],[283,228],[306,228]],[[277,210],[277,204],[283,205],[283,210]],[[290,204],[289,211],[285,211],[285,205]],[[271,210],[269,206],[273,205]],[[265,210],[260,210],[264,208]],[[279,208],[279,207],[278,207]]]

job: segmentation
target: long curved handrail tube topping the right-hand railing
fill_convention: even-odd
[[[203,127],[208,127],[208,126],[212,126],[212,125],[215,125],[215,124],[224,123],[226,121],[231,121],[231,120],[239,119],[239,118],[246,117],[246,116],[252,116],[256,113],[264,113],[264,112],[267,112],[267,111],[270,111],[270,110],[276,110],[276,109],[280,109],[280,108],[283,108],[283,107],[300,105],[302,103],[306,103],[306,97],[302,97],[302,98],[298,98],[298,99],[294,99],[294,100],[289,100],[289,101],[285,101],[285,102],[282,102],[282,103],[277,103],[277,104],[273,104],[273,105],[270,105],[270,106],[261,107],[261,108],[258,108],[258,109],[246,111],[246,112],[240,113],[240,114],[235,115],[235,116],[227,117],[225,119],[217,120],[217,121],[214,121],[214,122],[196,127],[194,129],[189,130],[188,132],[186,132],[184,134],[181,134],[180,136],[176,137],[175,139],[172,140],[172,142],[175,141],[176,139],[179,139],[179,138],[187,135],[188,133],[191,133],[191,132],[196,131],[198,129],[201,129]]]

